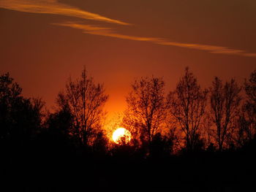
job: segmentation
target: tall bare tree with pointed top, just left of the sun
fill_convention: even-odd
[[[70,134],[77,137],[80,145],[93,145],[98,132],[102,131],[103,107],[107,100],[103,85],[88,77],[86,69],[75,81],[69,77],[66,90],[59,93],[57,103],[59,107],[70,110],[73,118]]]

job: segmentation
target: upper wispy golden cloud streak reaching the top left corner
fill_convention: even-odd
[[[57,0],[0,0],[0,8],[11,9],[20,12],[46,13],[66,15],[89,20],[99,20],[120,25],[129,25],[121,20],[105,18],[92,12],[61,4]]]

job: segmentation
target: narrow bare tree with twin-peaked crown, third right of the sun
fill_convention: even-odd
[[[231,79],[223,85],[222,80],[215,77],[210,88],[211,92],[211,119],[216,128],[214,139],[217,142],[218,150],[232,140],[235,118],[238,115],[238,106],[241,101],[238,87],[235,80]]]

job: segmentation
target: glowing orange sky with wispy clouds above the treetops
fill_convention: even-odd
[[[48,107],[83,65],[121,112],[135,77],[173,89],[189,66],[206,87],[256,69],[254,0],[0,0],[1,73]]]

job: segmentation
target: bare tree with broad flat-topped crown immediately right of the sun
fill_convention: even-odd
[[[151,141],[165,118],[165,82],[162,78],[142,77],[132,84],[127,96],[124,125],[141,143]]]

